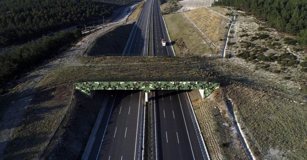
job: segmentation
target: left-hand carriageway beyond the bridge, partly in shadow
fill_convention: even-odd
[[[146,0],[142,8],[140,18],[137,20],[130,41],[128,42],[127,50],[124,51],[125,56],[148,56],[149,23],[152,1],[153,0]]]

